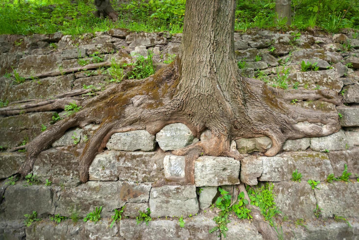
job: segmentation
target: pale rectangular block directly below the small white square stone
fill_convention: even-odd
[[[150,192],[151,217],[188,216],[199,211],[195,185],[164,185]]]

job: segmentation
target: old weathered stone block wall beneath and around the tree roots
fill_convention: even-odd
[[[77,39],[60,33],[2,35],[0,74],[11,72],[11,67],[22,76],[80,67],[78,58],[91,60],[94,52],[104,61],[118,58],[121,53],[147,57],[148,49],[153,50],[159,69],[164,66],[163,60],[178,54],[181,38],[181,34],[129,33],[126,29],[97,32],[95,37],[84,34]],[[235,33],[234,40],[237,60],[246,62],[246,67],[241,69],[244,75],[259,74],[272,85],[278,72],[281,75],[283,69],[289,69],[289,88],[295,85],[335,90],[342,97],[340,106],[322,100],[293,104],[340,113],[342,129],[326,137],[287,140],[283,152],[274,157],[263,155],[271,147],[270,138],[238,139],[232,146],[246,154],[243,160],[201,156],[195,161],[195,185],[183,186],[153,187],[153,183],[162,178],[171,181],[185,177],[185,159],[172,155],[172,150],[210,138],[210,131],[196,138],[183,123],[169,124],[156,135],[145,130],[113,134],[107,150],[93,160],[90,181],[85,184],[80,184],[78,156],[96,131],[96,124],[68,130],[50,149],[41,152],[33,167],[33,174],[41,180],[38,185],[28,185],[24,181],[6,184],[7,178],[17,174],[25,154],[2,151],[0,239],[223,239],[223,236],[218,237],[218,231],[209,233],[215,226],[212,219],[218,212],[210,206],[219,196],[218,186],[231,188],[241,182],[251,186],[274,183],[275,202],[283,212],[276,222],[281,223],[284,239],[359,239],[356,204],[359,183],[355,175],[359,175],[359,40],[352,38],[350,30],[334,36],[303,33],[295,41],[290,32],[251,30]],[[354,48],[350,52],[342,51],[341,43],[348,40]],[[269,51],[271,47],[275,50]],[[261,60],[256,61],[256,56]],[[302,60],[317,62],[319,70],[301,72]],[[347,63],[351,63],[350,68],[345,65]],[[46,77],[39,82],[28,80],[18,85],[2,76],[0,99],[10,102],[48,99],[82,89],[83,84],[106,87],[110,84],[108,80],[106,72],[98,71]],[[41,124],[50,127],[53,113],[0,117],[2,149],[18,146],[24,139],[31,141],[41,133]],[[74,133],[80,140],[78,144],[71,138]],[[330,174],[339,177],[345,164],[352,173],[349,183],[325,181]],[[296,169],[303,176],[302,182],[291,180]],[[52,181],[52,185],[45,186],[46,179]],[[309,179],[321,181],[319,189],[312,189],[307,183]],[[100,222],[82,221],[99,206],[102,206]],[[110,228],[113,210],[123,206],[122,220]],[[320,218],[314,215],[316,206],[322,209]],[[139,211],[147,208],[150,208],[152,221],[148,225],[137,224],[135,218]],[[36,211],[42,221],[25,227],[24,214],[32,211]],[[75,225],[70,219],[55,224],[48,217],[55,214],[71,217],[74,213],[80,217]],[[347,223],[335,222],[335,215],[347,218],[351,228]],[[181,216],[184,227],[178,223]],[[300,218],[306,226],[293,223]],[[226,239],[262,239],[251,221],[242,221],[236,216],[230,216],[230,220]]]

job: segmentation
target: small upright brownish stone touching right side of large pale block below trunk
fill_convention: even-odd
[[[257,178],[262,175],[262,172],[262,160],[257,159],[255,156],[244,157],[241,160],[241,182],[248,185],[257,185]]]

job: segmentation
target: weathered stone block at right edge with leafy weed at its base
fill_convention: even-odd
[[[352,173],[351,178],[355,174],[359,175],[359,148],[350,150],[332,151],[329,152],[329,159],[333,168],[334,176],[339,177],[344,171],[344,164],[348,166],[348,173]]]

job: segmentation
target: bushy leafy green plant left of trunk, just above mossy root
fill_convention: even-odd
[[[155,66],[153,66],[153,53],[148,51],[147,58],[142,55],[137,55],[134,63],[127,63],[123,66],[132,66],[132,70],[127,73],[129,79],[144,79],[155,73]]]

